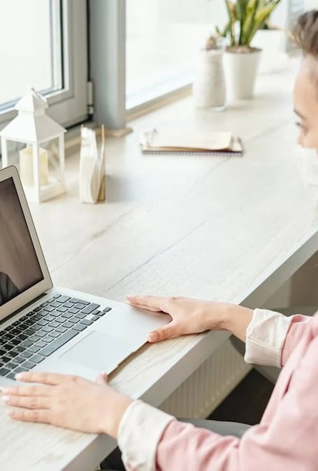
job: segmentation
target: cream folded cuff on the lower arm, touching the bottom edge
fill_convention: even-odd
[[[159,440],[174,419],[141,400],[129,405],[120,421],[117,438],[127,470],[155,471]]]

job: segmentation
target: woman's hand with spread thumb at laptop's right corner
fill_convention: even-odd
[[[252,310],[229,303],[159,296],[127,296],[127,300],[133,306],[171,315],[171,322],[150,332],[148,342],[224,329],[245,340],[246,328],[252,319]]]

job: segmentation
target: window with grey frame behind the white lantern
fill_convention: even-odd
[[[0,124],[34,87],[65,126],[87,117],[85,0],[0,0]]]

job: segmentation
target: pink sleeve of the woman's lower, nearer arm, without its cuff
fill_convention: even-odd
[[[269,425],[254,426],[241,439],[171,421],[157,447],[156,471],[317,470],[317,364],[315,338]]]

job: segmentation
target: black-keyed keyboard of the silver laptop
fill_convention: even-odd
[[[56,293],[0,331],[0,376],[15,379],[91,326],[111,307]]]

